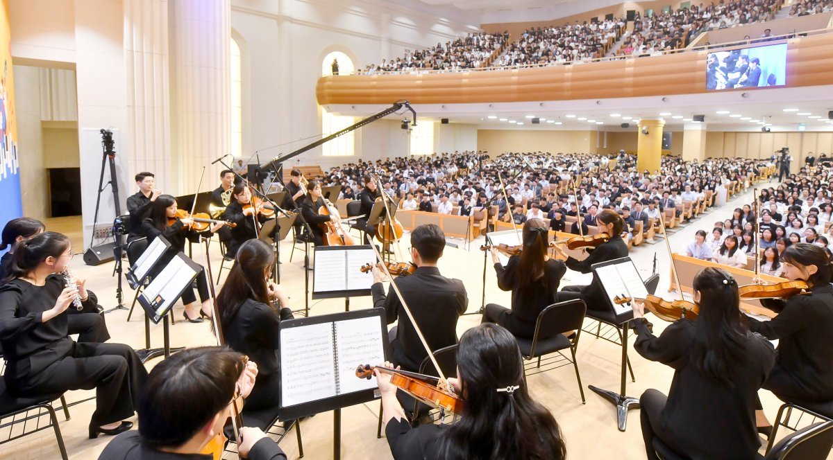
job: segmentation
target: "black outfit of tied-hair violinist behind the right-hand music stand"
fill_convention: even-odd
[[[591,273],[591,265],[608,260],[621,259],[627,257],[627,244],[622,237],[616,235],[605,243],[596,246],[595,250],[591,250],[590,255],[585,260],[575,260],[572,257],[566,261],[567,268],[581,273]],[[605,289],[601,285],[601,280],[596,274],[593,274],[593,281],[586,286],[566,286],[564,289],[556,294],[556,300],[563,302],[565,300],[582,299],[587,304],[587,309],[597,311],[609,311],[610,305],[605,297]]]

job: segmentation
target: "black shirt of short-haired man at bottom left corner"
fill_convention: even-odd
[[[247,403],[248,404],[248,403]],[[107,444],[98,460],[212,460],[211,453],[169,453],[147,447],[137,431],[119,434]],[[249,450],[251,460],[287,460],[287,455],[269,438],[263,438]]]

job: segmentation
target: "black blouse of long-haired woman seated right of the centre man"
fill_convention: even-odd
[[[506,267],[500,263],[495,264],[497,287],[512,291],[512,314],[517,319],[535,324],[538,320],[538,314],[547,306],[556,302],[556,291],[567,268],[562,260],[547,260],[544,265],[546,287],[543,279],[537,279],[521,289],[521,280],[528,274],[518,273],[520,263],[521,256],[513,255],[506,263]]]

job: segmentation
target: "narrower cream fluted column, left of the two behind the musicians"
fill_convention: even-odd
[[[156,174],[157,188],[172,192],[171,111],[167,0],[124,1],[127,131],[132,156],[124,165],[127,195],[140,171]]]

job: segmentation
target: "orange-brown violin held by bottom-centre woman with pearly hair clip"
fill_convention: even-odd
[[[426,403],[435,408],[441,408],[450,413],[459,414],[463,410],[462,398],[454,393],[453,389],[450,388],[451,385],[448,385],[445,380],[421,373],[407,372],[382,366],[371,366],[369,364],[359,365],[356,368],[356,377],[367,378],[369,380],[373,376],[373,369],[379,369],[379,372],[392,374],[391,384],[393,386],[401,388],[402,391],[410,394],[422,403]]]

